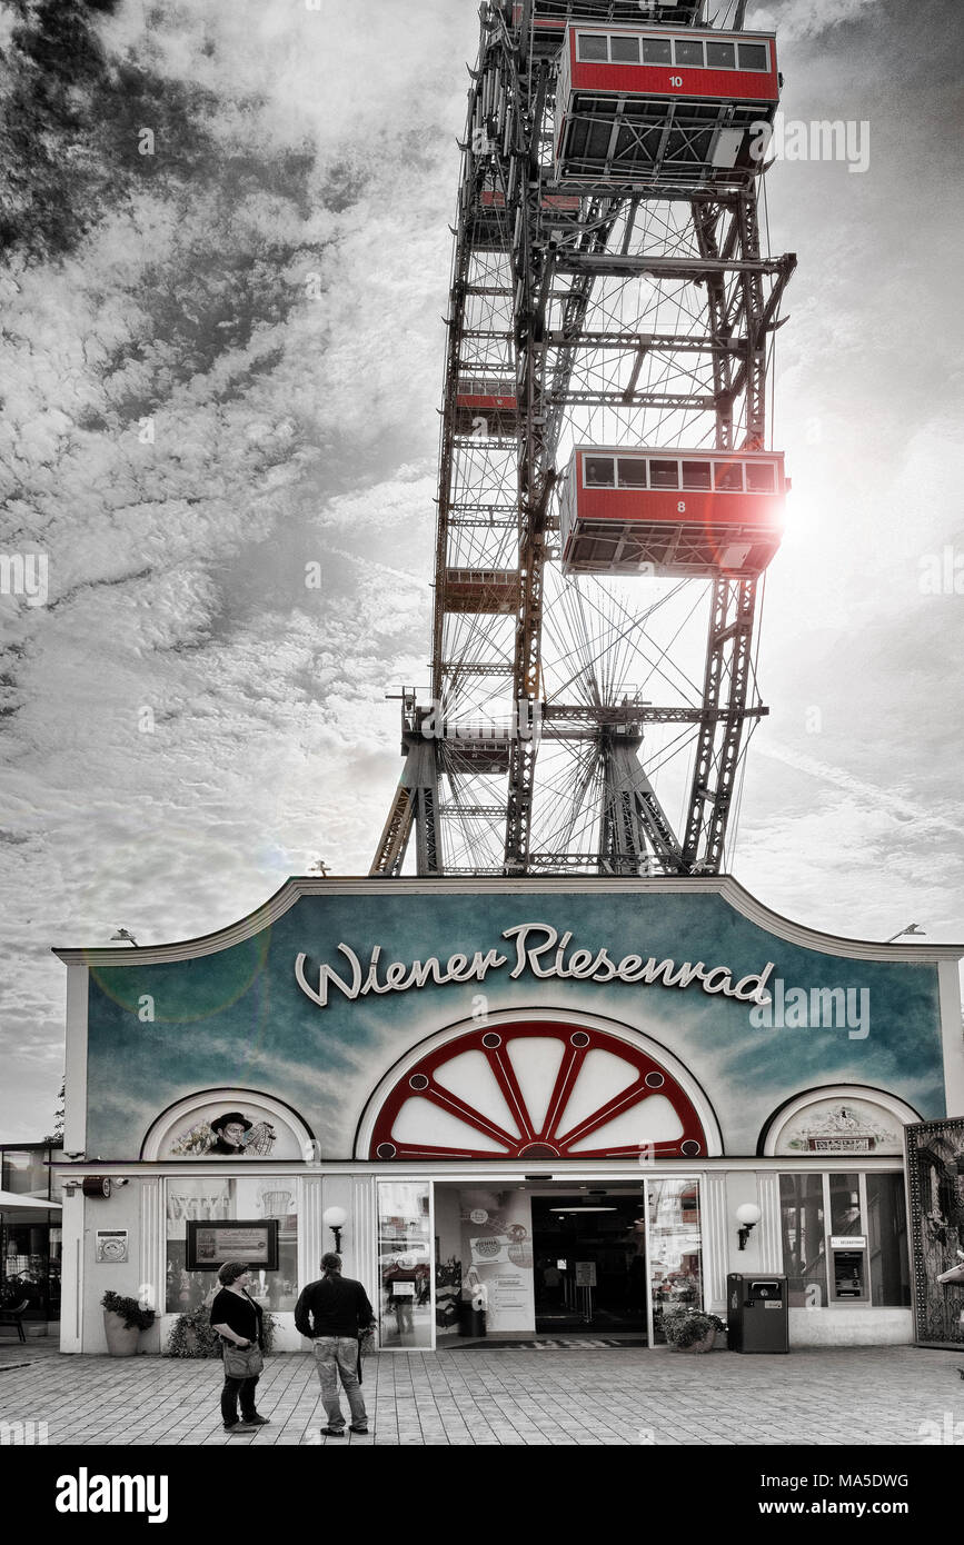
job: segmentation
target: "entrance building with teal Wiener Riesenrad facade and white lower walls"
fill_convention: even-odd
[[[726,878],[294,879],[201,939],[59,950],[62,1347],[104,1350],[113,1289],[161,1350],[243,1259],[295,1350],[335,1242],[386,1350],[482,1315],[658,1347],[732,1272],[786,1275],[791,1346],[958,1344],[959,953]]]

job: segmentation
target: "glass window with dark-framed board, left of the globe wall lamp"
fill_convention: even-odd
[[[266,1313],[294,1310],[298,1298],[298,1182],[294,1176],[179,1176],[167,1180],[167,1262],[164,1310],[188,1315],[218,1290],[219,1262],[212,1270],[187,1270],[188,1219],[278,1219],[278,1270],[252,1267],[247,1292]]]

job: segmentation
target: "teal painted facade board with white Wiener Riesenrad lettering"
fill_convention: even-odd
[[[218,1129],[246,1163],[298,1162],[306,1132],[323,1162],[391,1159],[371,1140],[380,1080],[433,1037],[477,1029],[480,995],[490,1035],[508,1015],[586,1017],[644,1043],[666,1089],[670,1065],[689,1069],[709,1154],[755,1154],[774,1112],[816,1085],[859,1086],[868,1100],[887,1091],[939,1119],[939,970],[955,955],[941,949],[851,947],[788,924],[726,878],[289,881],[261,912],[195,944],[60,952],[88,973],[85,1021],[68,1027],[87,1069],[77,1146],[134,1160],[164,1111],[207,1089],[236,1091],[236,1103],[185,1108],[165,1151],[144,1157],[215,1159]],[[419,1089],[406,1115],[416,1140],[429,1103]],[[842,1103],[833,1131],[800,1134],[805,1151],[879,1153],[873,1112]],[[229,1115],[233,1129],[218,1126]],[[446,1119],[457,1120],[453,1103]],[[497,1159],[493,1126],[505,1131],[501,1105],[480,1142],[453,1126],[450,1151]],[[627,1146],[640,1146],[633,1132],[613,1139]]]

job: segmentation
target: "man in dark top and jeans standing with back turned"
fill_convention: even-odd
[[[358,1330],[368,1330],[375,1315],[360,1282],[341,1276],[341,1256],[323,1255],[324,1276],[309,1282],[295,1304],[295,1326],[315,1344],[315,1366],[328,1426],[321,1435],[345,1437],[345,1414],[338,1377],[348,1395],[351,1431],[368,1432],[368,1415],[358,1381]]]

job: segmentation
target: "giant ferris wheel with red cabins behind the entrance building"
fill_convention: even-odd
[[[782,76],[745,0],[487,0],[462,145],[433,681],[372,874],[728,856],[796,266],[759,201]],[[765,226],[765,221],[763,221]]]

